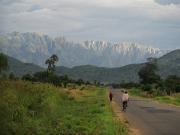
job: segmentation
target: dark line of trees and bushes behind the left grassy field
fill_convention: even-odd
[[[66,87],[70,83],[74,83],[77,85],[89,85],[91,84],[89,81],[84,81],[82,79],[73,80],[69,78],[67,75],[59,76],[55,74],[55,67],[56,62],[58,61],[57,55],[53,54],[50,58],[48,58],[45,61],[45,64],[47,65],[47,69],[45,71],[36,72],[34,74],[25,74],[21,78],[15,76],[14,73],[7,74],[1,74],[1,79],[9,79],[9,80],[25,80],[25,81],[31,81],[31,82],[42,82],[42,83],[51,83],[55,86],[63,86]],[[0,73],[3,70],[8,69],[8,60],[7,57],[4,54],[0,54]],[[94,82],[94,84],[98,85],[98,82]]]

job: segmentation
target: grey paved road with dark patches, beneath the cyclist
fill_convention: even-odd
[[[121,106],[121,90],[111,91]],[[180,107],[130,97],[125,116],[142,135],[180,135]]]

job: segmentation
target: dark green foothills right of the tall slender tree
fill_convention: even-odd
[[[142,64],[131,64],[120,68],[104,68],[91,65],[78,66],[74,68],[57,67],[57,73],[68,75],[73,79],[83,79],[88,81],[100,81],[104,83],[137,82],[139,80],[138,71]],[[172,51],[157,59],[159,68],[158,74],[162,78],[168,75],[180,76],[180,50]]]

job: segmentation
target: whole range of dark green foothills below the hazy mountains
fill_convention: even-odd
[[[23,63],[17,59],[8,56],[9,71],[17,76],[30,73],[33,74],[38,71],[45,70],[37,65],[31,63]],[[103,83],[120,83],[125,82],[138,82],[138,71],[145,65],[130,64],[118,68],[104,68],[92,65],[76,66],[73,68],[56,67],[56,73],[59,75],[68,75],[73,79],[83,79],[93,82],[97,80]],[[180,76],[180,49],[174,50],[157,59],[158,74],[162,78],[168,75]]]

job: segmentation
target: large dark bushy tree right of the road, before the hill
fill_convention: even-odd
[[[156,74],[158,70],[156,59],[149,58],[148,62],[142,67],[139,72],[139,78],[142,84],[153,84],[160,81],[160,76]]]

